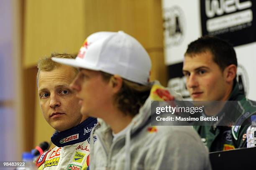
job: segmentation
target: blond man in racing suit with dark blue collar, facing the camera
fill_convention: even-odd
[[[74,58],[54,53],[38,61],[38,97],[44,118],[56,129],[51,141],[56,145],[38,157],[42,170],[87,169],[90,154],[90,131],[97,120],[80,112],[76,92],[69,87],[77,69],[55,63],[51,58]]]

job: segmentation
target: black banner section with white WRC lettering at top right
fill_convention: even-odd
[[[239,46],[256,41],[254,0],[200,0],[202,35]]]

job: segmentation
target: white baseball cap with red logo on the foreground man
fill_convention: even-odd
[[[73,67],[118,74],[143,85],[148,84],[151,70],[146,50],[123,31],[93,33],[84,41],[75,59],[51,59]]]

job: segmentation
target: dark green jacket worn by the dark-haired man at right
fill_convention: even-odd
[[[246,99],[237,83],[234,85],[229,101],[239,101],[237,104],[239,112],[231,112],[236,117],[234,126],[194,126],[209,152],[246,147],[246,130],[250,126],[251,115],[256,114],[256,103]]]

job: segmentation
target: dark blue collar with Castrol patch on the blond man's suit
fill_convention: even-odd
[[[54,133],[51,137],[51,142],[57,147],[64,147],[83,142],[90,137],[90,132],[96,124],[97,119],[88,117],[84,122],[75,127]]]

